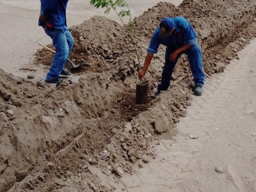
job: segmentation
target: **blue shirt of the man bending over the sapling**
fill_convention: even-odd
[[[159,38],[160,27],[158,26],[151,38],[147,52],[149,54],[157,53],[160,44],[167,46],[171,50],[176,50],[184,44],[188,43],[191,46],[197,45],[196,33],[190,26],[188,21],[183,17],[174,17],[175,30],[173,34],[166,39]]]

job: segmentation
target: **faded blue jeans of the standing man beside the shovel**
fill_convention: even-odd
[[[59,78],[62,69],[65,67],[74,39],[67,27],[65,27],[64,32],[61,29],[49,30],[46,26],[43,26],[43,28],[46,35],[52,38],[52,44],[55,48],[51,68],[45,78],[53,81]]]

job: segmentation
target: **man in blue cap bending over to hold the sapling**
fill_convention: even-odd
[[[145,76],[154,53],[160,44],[166,46],[165,65],[162,72],[161,83],[157,86],[157,92],[151,95],[156,98],[160,91],[166,91],[170,86],[172,72],[180,55],[188,55],[189,65],[195,82],[195,95],[202,95],[204,85],[204,72],[202,70],[202,55],[196,41],[196,34],[188,21],[183,17],[164,18],[156,28],[147,49],[147,56],[143,68],[139,71],[139,78]]]

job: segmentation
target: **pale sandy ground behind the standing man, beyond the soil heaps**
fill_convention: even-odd
[[[132,16],[142,14],[149,7],[154,6],[157,1],[136,1],[128,0]],[[167,0],[175,5],[179,5],[181,0]],[[20,68],[34,68],[28,61],[33,58],[36,49],[41,49],[37,42],[43,44],[51,43],[51,39],[44,34],[42,28],[38,26],[38,16],[40,13],[40,1],[37,0],[0,0],[0,68],[7,73],[12,73],[20,77],[26,77],[28,73],[19,71]],[[102,9],[93,8],[89,0],[71,0],[68,3],[67,20],[68,27],[82,23],[94,15],[104,15]],[[120,22],[114,13],[109,13],[108,18]],[[34,74],[33,81],[44,80],[44,68],[39,68]]]

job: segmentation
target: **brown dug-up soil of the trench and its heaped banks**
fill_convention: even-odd
[[[197,33],[207,76],[223,71],[255,36],[255,3],[159,3],[133,21],[139,55],[144,58],[161,18],[184,16]],[[0,191],[112,191],[116,178],[133,172],[143,156],[154,158],[151,141],[159,134],[172,138],[186,116],[193,83],[185,57],[170,89],[137,106],[139,65],[123,27],[95,16],[70,31],[70,59],[87,61],[78,83],[53,89],[0,70]],[[163,56],[161,46],[146,75],[151,91]],[[36,53],[37,63],[49,66],[51,59],[45,50]]]

